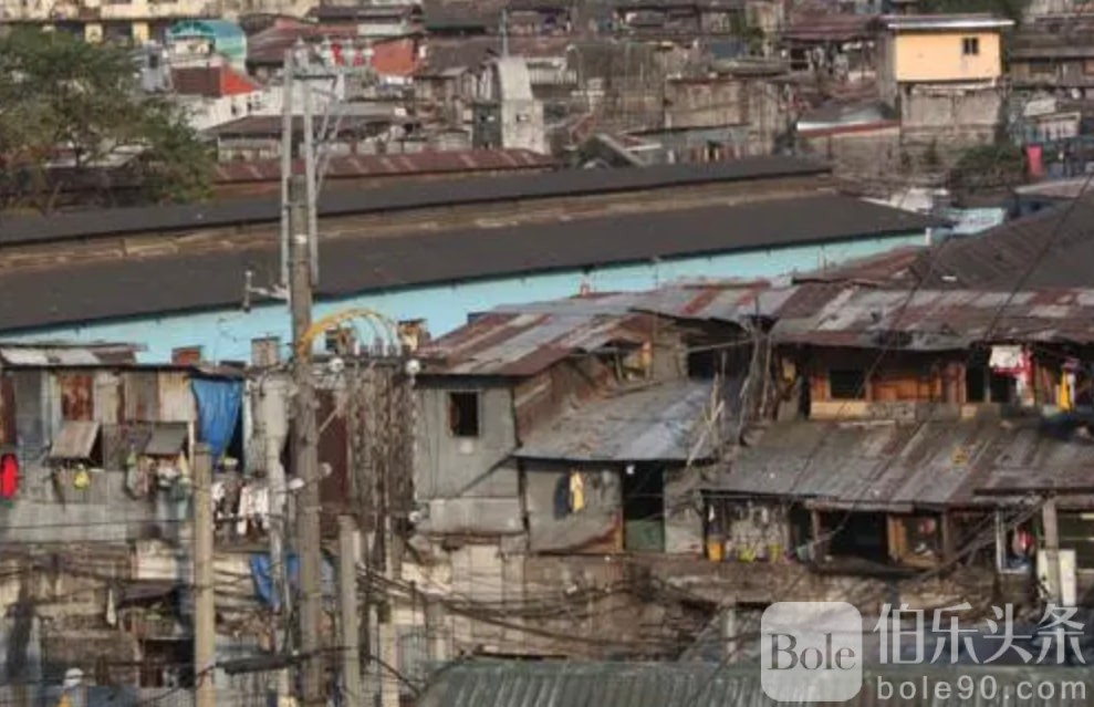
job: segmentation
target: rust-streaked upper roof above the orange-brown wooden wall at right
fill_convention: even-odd
[[[1094,290],[1048,289],[1013,293],[982,290],[846,288],[813,313],[774,325],[783,343],[967,349],[973,343],[1094,342]]]

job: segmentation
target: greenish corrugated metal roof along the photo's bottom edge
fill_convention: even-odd
[[[1014,707],[1055,707],[1073,705],[1070,697],[1055,699],[1019,699],[1020,683],[1052,684],[1057,688],[1066,682],[1082,683],[1090,694],[1094,689],[1090,670],[1063,667],[894,666],[864,672],[864,687],[855,697],[843,703],[850,707],[878,704],[873,689],[877,676],[899,685],[911,680],[919,685],[947,682],[956,685],[960,675],[970,676],[972,684],[991,679],[997,689],[972,690],[976,695],[961,699],[966,707],[989,707],[1007,704]],[[1035,692],[1035,690],[1034,690]],[[1063,690],[1056,689],[1060,694]],[[1024,693],[1023,693],[1024,694]],[[986,696],[986,695],[990,695]],[[799,704],[814,704],[802,684]],[[932,695],[902,705],[948,704]],[[542,662],[465,662],[439,670],[418,699],[419,707],[770,707],[774,705],[764,693],[760,670],[754,666],[725,667],[708,663],[571,663]]]

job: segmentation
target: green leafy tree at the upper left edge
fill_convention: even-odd
[[[55,169],[66,165],[66,169]],[[144,200],[207,195],[212,156],[163,96],[144,94],[131,54],[64,32],[0,37],[0,193],[7,206],[53,208],[69,183],[104,167]],[[60,175],[65,176],[60,176]],[[103,185],[108,188],[108,185]]]

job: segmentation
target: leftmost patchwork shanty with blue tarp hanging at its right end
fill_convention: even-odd
[[[18,459],[6,468],[6,542],[170,540],[194,443],[208,441],[218,467],[242,456],[242,383],[229,371],[140,366],[125,345],[17,344],[0,346],[0,428]]]

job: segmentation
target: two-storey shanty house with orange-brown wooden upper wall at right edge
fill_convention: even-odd
[[[708,542],[736,561],[1029,570],[1015,534],[1051,522],[1088,581],[1094,295],[829,287],[810,299],[808,314],[774,314],[779,422],[707,489]]]

